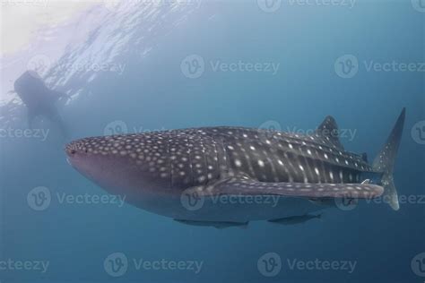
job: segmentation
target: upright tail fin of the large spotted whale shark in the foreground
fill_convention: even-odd
[[[395,122],[393,131],[390,133],[384,148],[379,152],[377,158],[373,161],[373,169],[378,172],[383,172],[382,185],[384,186],[384,195],[388,199],[388,204],[393,210],[399,210],[397,190],[395,189],[393,171],[397,150],[400,145],[400,140],[403,133],[404,119],[406,109],[403,108],[402,114]]]

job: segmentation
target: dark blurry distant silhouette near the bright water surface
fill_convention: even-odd
[[[14,91],[28,109],[28,126],[32,128],[37,116],[44,116],[56,124],[64,136],[67,135],[65,124],[56,108],[56,101],[69,99],[65,93],[49,90],[38,73],[27,71],[14,82]]]

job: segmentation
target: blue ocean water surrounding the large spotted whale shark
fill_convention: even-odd
[[[73,97],[59,106],[70,136],[38,121],[46,139],[17,137],[24,107],[2,114],[1,282],[423,282],[423,1],[176,3],[87,12],[105,10],[102,24],[43,74]],[[70,73],[93,62],[108,71]],[[401,209],[361,202],[294,226],[185,226],[114,202],[64,152],[86,136],[209,125],[303,133],[332,115],[346,150],[373,160],[403,107]]]

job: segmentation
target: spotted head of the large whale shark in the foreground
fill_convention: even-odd
[[[109,193],[167,193],[165,145],[150,135],[117,135],[77,140],[65,147],[68,162]]]

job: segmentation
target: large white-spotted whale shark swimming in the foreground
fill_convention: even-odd
[[[76,170],[108,193],[180,223],[294,223],[337,201],[383,194],[398,210],[393,171],[404,119],[403,108],[372,164],[344,150],[332,116],[309,135],[204,127],[85,138],[65,151]]]

